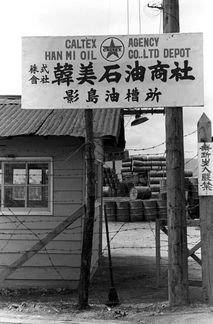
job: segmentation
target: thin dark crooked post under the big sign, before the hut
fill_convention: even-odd
[[[90,267],[92,257],[92,239],[95,214],[95,156],[93,141],[93,113],[92,109],[85,109],[86,128],[86,212],[81,254],[81,272],[79,279],[79,307],[88,306]]]

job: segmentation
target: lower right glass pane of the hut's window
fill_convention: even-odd
[[[27,207],[48,207],[48,186],[28,186]]]

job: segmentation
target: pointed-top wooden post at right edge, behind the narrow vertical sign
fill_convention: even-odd
[[[205,113],[202,114],[197,123],[197,138],[198,143],[210,143],[212,141],[211,121]],[[213,195],[199,196],[199,208],[203,302],[213,305]]]

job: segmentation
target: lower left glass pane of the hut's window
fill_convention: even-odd
[[[5,187],[5,207],[25,207],[25,186]]]

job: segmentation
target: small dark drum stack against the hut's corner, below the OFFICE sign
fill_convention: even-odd
[[[103,197],[116,197],[119,183],[115,169],[103,168]]]

